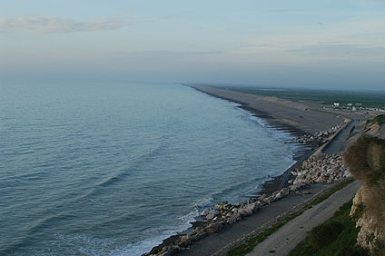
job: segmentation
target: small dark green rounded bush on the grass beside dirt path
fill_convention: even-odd
[[[314,249],[321,249],[334,241],[342,229],[343,225],[340,222],[322,223],[311,230],[309,243]]]

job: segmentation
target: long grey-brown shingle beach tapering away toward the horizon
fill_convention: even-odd
[[[233,103],[239,103],[240,108],[262,119],[268,126],[290,133],[292,136],[299,138],[297,141],[305,145],[305,147],[298,147],[298,151],[294,153],[293,159],[296,163],[294,163],[289,170],[263,183],[260,191],[262,193],[275,192],[287,185],[286,182],[289,179],[288,172],[306,159],[314,149],[317,149],[322,143],[325,143],[330,135],[329,133],[326,134],[326,136],[320,136],[319,134],[325,131],[333,134],[341,128],[343,123],[349,122],[346,117],[338,113],[323,112],[320,109],[314,108],[314,105],[311,103],[299,103],[256,94],[244,94],[204,85],[188,86],[204,94],[209,94]],[[303,138],[311,139],[303,140]],[[255,193],[258,193],[258,191],[255,191]]]

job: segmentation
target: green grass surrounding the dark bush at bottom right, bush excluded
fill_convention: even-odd
[[[325,223],[315,227],[310,235],[304,241],[301,241],[294,250],[290,252],[290,256],[329,256],[329,255],[369,255],[368,251],[356,246],[356,239],[359,230],[356,228],[356,223],[350,218],[350,209],[352,202],[343,204],[338,212]],[[314,248],[311,244],[312,236],[316,229],[320,230],[322,227],[331,226],[334,223],[342,225],[340,234],[327,245],[320,249]],[[318,234],[317,239],[322,240]]]

